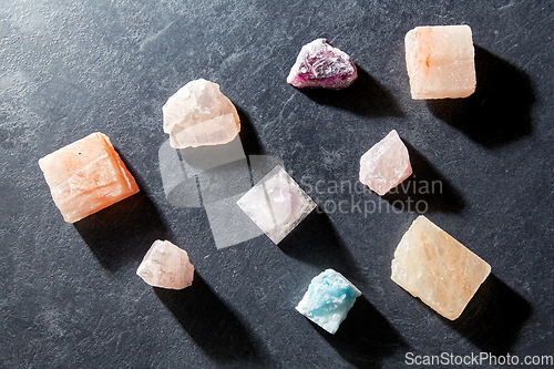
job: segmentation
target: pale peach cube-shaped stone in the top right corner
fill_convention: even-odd
[[[404,42],[412,99],[466,98],[475,91],[469,25],[417,27]]]

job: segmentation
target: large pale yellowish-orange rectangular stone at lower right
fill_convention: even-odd
[[[490,273],[489,264],[420,215],[398,244],[391,278],[454,320]]]

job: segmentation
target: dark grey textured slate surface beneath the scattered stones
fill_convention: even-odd
[[[554,355],[552,1],[1,3],[3,368],[398,368],[408,352]],[[406,32],[460,23],[473,30],[476,93],[412,101]],[[286,83],[300,47],[319,37],[358,64],[349,90]],[[198,78],[239,107],[247,154],[280,157],[327,211],[280,247],[260,236],[217,250],[203,208],[165,199],[161,107]],[[441,181],[442,193],[334,193],[392,129],[417,181]],[[66,224],[37,161],[95,131],[142,192]],[[492,266],[454,322],[390,280],[417,216],[401,212],[410,199]],[[332,211],[340,201],[381,209]],[[156,289],[135,275],[156,238],[188,250],[194,286]],[[363,293],[335,336],[294,309],[327,267]]]

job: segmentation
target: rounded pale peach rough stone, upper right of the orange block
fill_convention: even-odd
[[[163,107],[164,132],[175,148],[220,145],[240,131],[238,113],[219,85],[206,80],[191,81],[171,96]]]

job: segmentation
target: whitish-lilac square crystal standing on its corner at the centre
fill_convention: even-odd
[[[237,205],[276,245],[316,207],[280,165],[240,197]]]

